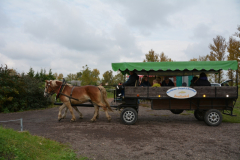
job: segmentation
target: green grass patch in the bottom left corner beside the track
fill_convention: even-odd
[[[68,145],[0,126],[0,160],[84,160]]]

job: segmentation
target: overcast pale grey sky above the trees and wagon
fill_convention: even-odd
[[[240,25],[239,0],[0,0],[0,64],[18,72],[111,70],[153,49],[174,61],[209,54]]]

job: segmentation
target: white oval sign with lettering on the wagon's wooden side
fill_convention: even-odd
[[[191,98],[197,94],[197,91],[190,87],[174,87],[167,90],[167,95],[172,98],[186,99]]]

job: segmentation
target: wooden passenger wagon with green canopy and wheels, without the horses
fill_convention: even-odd
[[[136,62],[112,63],[114,71],[126,74],[134,71],[138,75],[189,76],[219,74],[222,70],[236,71],[237,61],[189,61],[189,62]],[[238,79],[236,79],[238,84]],[[180,114],[183,110],[194,110],[197,120],[207,125],[217,126],[222,122],[223,114],[233,115],[234,104],[238,98],[236,86],[194,86],[194,87],[140,87],[126,86],[123,91],[116,88],[114,101],[120,102],[117,107],[121,112],[124,124],[135,124],[138,119],[139,99],[150,100],[153,110],[171,110]],[[123,94],[119,94],[122,92]],[[119,96],[120,95],[120,96]],[[122,96],[123,95],[123,96]]]

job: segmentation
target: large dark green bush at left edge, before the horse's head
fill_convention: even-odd
[[[16,112],[46,108],[50,103],[43,97],[44,84],[30,76],[13,74],[0,67],[0,112]]]

